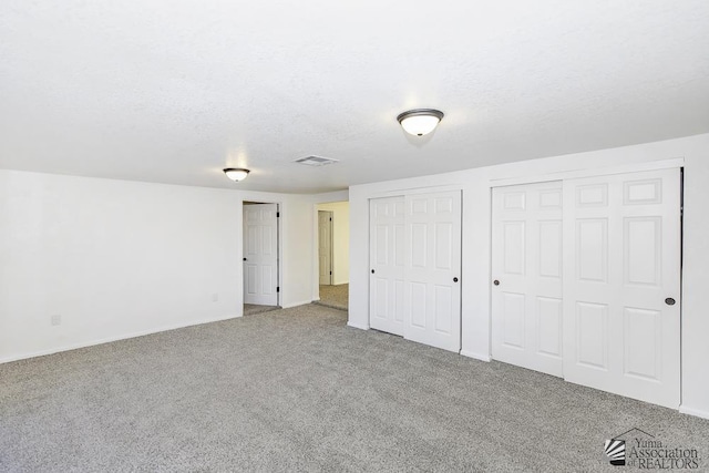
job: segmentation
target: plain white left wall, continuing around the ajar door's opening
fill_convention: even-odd
[[[310,302],[312,196],[0,171],[0,362],[240,316],[245,199],[280,204],[281,304]]]

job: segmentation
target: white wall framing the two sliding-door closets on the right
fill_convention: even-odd
[[[350,187],[349,325],[369,327],[369,205],[374,197],[463,191],[462,354],[490,359],[491,188],[583,169],[685,160],[682,412],[709,418],[709,134]],[[629,168],[628,168],[629,171]],[[507,179],[507,181],[501,181]]]

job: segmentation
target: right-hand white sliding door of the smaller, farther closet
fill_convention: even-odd
[[[404,338],[461,348],[461,193],[405,196]]]

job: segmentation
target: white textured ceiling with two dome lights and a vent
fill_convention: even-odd
[[[3,0],[0,167],[306,193],[705,133],[708,25],[707,0]]]

